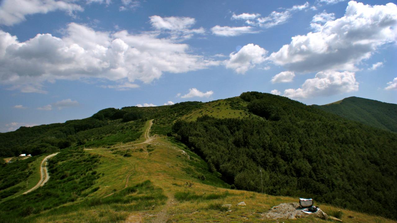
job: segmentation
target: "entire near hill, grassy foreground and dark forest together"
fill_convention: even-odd
[[[274,222],[262,213],[299,196],[345,222],[397,219],[397,134],[271,94],[108,108],[0,142],[3,157],[35,153],[2,164],[1,222]]]

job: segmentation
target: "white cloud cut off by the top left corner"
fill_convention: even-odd
[[[3,0],[0,3],[0,24],[15,25],[26,20],[26,15],[36,13],[46,14],[56,10],[61,10],[73,15],[73,12],[83,11],[84,9],[71,3],[73,1],[55,0]]]

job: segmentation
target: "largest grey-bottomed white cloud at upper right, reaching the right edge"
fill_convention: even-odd
[[[320,31],[292,37],[269,59],[290,71],[355,71],[356,64],[397,37],[397,6],[370,6],[350,1],[345,16],[327,21]]]

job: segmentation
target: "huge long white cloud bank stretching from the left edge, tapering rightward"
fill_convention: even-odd
[[[219,65],[189,53],[189,45],[151,34],[95,31],[69,23],[62,38],[38,34],[19,42],[0,30],[0,84],[21,92],[45,93],[43,83],[56,80],[107,79],[119,88],[150,83],[163,72],[185,73]],[[116,87],[115,87],[116,88]]]

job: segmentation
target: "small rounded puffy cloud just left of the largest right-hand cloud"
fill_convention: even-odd
[[[255,67],[256,64],[263,63],[266,60],[267,50],[252,43],[247,44],[239,50],[232,52],[229,60],[226,60],[225,66],[234,69],[237,73],[245,73]]]

